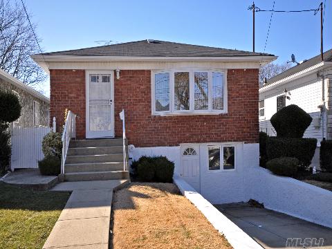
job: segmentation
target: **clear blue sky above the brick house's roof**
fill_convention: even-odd
[[[332,48],[331,0],[325,1],[324,51]],[[256,0],[261,10],[273,0]],[[318,8],[320,0],[275,0],[275,10]],[[252,50],[252,0],[25,0],[46,52],[101,46],[105,42],[157,39],[185,44]],[[256,12],[255,50],[277,55],[277,63],[320,53],[320,13]],[[44,92],[49,94],[49,82]]]

